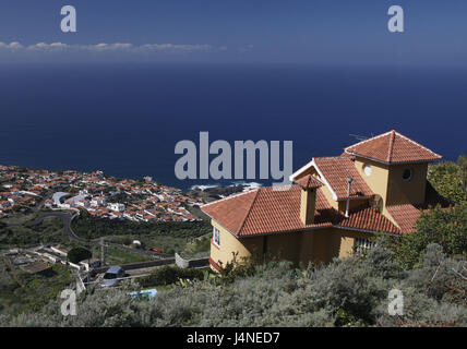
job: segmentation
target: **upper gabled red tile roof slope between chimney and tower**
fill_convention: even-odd
[[[330,184],[337,196],[337,200],[347,198],[347,177],[351,177],[350,197],[370,196],[373,191],[361,178],[354,164],[351,156],[315,157],[313,158],[315,167],[324,180]]]

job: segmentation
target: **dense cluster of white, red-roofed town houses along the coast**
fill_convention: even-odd
[[[0,218],[21,207],[84,209],[95,217],[132,221],[190,221],[199,219],[187,206],[202,204],[181,190],[151,177],[117,179],[103,171],[49,171],[0,165]]]

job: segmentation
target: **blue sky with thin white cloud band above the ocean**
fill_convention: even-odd
[[[65,4],[76,8],[77,33],[60,31],[60,9]],[[405,11],[404,34],[387,31],[387,9],[393,4]],[[466,34],[465,0],[3,0],[0,4],[0,61],[464,67]]]

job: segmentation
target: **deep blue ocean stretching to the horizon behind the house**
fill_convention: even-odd
[[[183,190],[175,145],[292,141],[294,170],[358,136],[396,131],[467,153],[467,71],[207,63],[0,65],[0,164],[152,176]],[[268,184],[268,181],[249,180]],[[237,181],[238,182],[238,181]]]

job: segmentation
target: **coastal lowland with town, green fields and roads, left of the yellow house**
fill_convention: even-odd
[[[0,286],[22,293],[0,287],[0,314],[45,304],[67,287],[106,289],[165,265],[205,267],[201,193],[151,177],[0,165]],[[107,280],[109,270],[119,279]],[[38,300],[39,288],[51,293]]]

